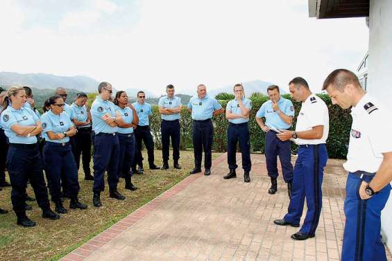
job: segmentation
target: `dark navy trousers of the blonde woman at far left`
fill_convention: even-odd
[[[10,145],[7,154],[7,169],[10,175],[12,208],[17,215],[25,213],[26,187],[30,181],[35,199],[42,210],[50,207],[48,190],[42,171],[42,159],[38,145]]]

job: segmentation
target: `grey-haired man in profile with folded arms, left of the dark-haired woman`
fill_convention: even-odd
[[[94,138],[94,192],[92,203],[102,206],[101,192],[105,189],[104,177],[108,170],[109,195],[114,199],[123,200],[125,197],[117,191],[117,170],[119,165],[120,143],[117,136],[117,120],[121,115],[116,114],[115,105],[109,101],[112,95],[112,85],[101,82],[98,86],[99,95],[92,102],[92,129]]]

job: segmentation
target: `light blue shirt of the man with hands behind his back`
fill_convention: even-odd
[[[222,105],[215,98],[205,96],[203,99],[193,96],[189,100],[188,108],[192,110],[192,118],[194,120],[207,120],[212,118],[212,113],[222,109]]]

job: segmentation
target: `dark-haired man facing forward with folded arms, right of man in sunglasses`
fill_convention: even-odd
[[[169,168],[169,145],[173,147],[173,167],[180,170],[178,164],[180,159],[180,112],[182,107],[181,98],[174,96],[174,87],[172,84],[166,87],[167,96],[160,98],[158,107],[162,118],[162,170]]]

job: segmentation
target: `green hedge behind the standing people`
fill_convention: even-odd
[[[330,98],[325,94],[318,95],[327,104],[330,111],[330,135],[327,139],[328,156],[333,159],[345,159],[348,150],[348,140],[351,126],[350,110],[342,110],[336,105],[332,105]],[[290,99],[290,96],[284,95],[284,98]],[[267,96],[255,95],[251,96],[253,109],[250,111],[249,129],[250,129],[250,150],[252,152],[264,153],[265,134],[256,123],[255,115],[257,110],[264,102],[268,100]],[[228,100],[219,100],[222,107],[225,108]],[[300,111],[300,102],[293,102],[296,116]],[[155,137],[155,147],[162,147],[160,134],[160,114],[157,106],[153,106],[153,115],[151,116],[151,132]],[[185,150],[192,147],[192,120],[187,107],[184,106],[181,112],[181,138],[180,149]],[[220,114],[213,118],[214,124],[214,143],[212,149],[216,152],[226,152],[227,150],[227,129],[228,120],[225,114]],[[296,117],[293,125],[296,124]],[[293,152],[296,152],[296,145],[292,145]]]

